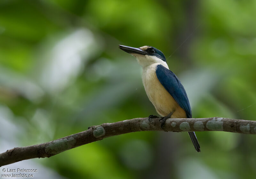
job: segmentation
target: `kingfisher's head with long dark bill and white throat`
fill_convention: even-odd
[[[155,47],[143,46],[140,48],[134,48],[119,45],[119,48],[137,58],[140,66],[142,67],[146,67],[156,63],[168,68],[163,52],[156,49]]]

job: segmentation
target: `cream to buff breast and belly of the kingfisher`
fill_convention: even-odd
[[[185,111],[159,82],[156,76],[157,65],[159,64],[145,67],[142,73],[142,82],[149,100],[161,116],[166,116],[173,112],[172,118],[186,118]]]

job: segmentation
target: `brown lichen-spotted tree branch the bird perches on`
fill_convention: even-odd
[[[21,160],[51,157],[60,152],[95,142],[110,136],[137,131],[225,131],[244,134],[256,134],[256,121],[245,121],[229,118],[191,118],[167,119],[164,130],[159,118],[134,118],[114,123],[92,126],[88,130],[56,139],[44,144],[27,147],[15,147],[0,154],[0,167]]]

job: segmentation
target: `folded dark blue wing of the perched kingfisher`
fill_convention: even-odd
[[[191,107],[187,93],[178,77],[171,70],[163,65],[156,66],[156,76],[164,88],[172,95],[182,109],[187,114],[187,118],[192,117]]]

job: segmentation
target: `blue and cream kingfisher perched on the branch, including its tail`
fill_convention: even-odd
[[[152,46],[134,48],[119,45],[119,48],[134,56],[142,66],[143,86],[156,112],[162,116],[162,128],[168,118],[192,118],[187,93],[178,77],[169,70],[163,52]],[[154,117],[150,115],[149,119]],[[188,135],[196,151],[200,152],[195,132],[188,132]]]

